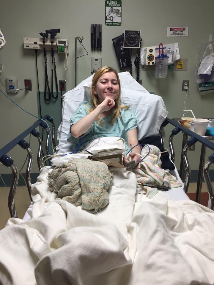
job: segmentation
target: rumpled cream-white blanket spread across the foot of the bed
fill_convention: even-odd
[[[193,201],[151,200],[136,178],[111,168],[110,203],[94,215],[33,185],[30,221],[0,231],[0,284],[214,284],[214,212]]]

